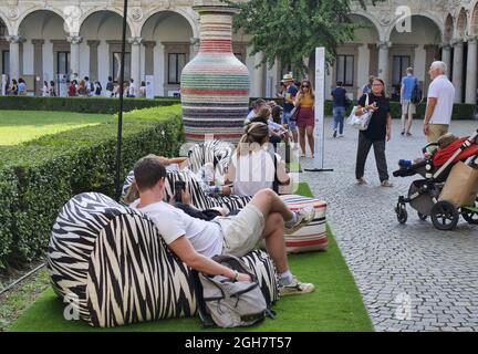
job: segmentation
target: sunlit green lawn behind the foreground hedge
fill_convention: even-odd
[[[113,116],[108,114],[0,110],[0,145],[17,145],[42,135],[96,125],[111,119]]]

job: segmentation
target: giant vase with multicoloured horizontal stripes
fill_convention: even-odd
[[[198,6],[200,48],[183,70],[181,104],[188,142],[237,143],[249,105],[249,71],[232,53],[232,17],[238,9]]]

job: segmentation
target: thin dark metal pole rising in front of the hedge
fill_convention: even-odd
[[[121,160],[122,160],[122,139],[123,139],[123,97],[124,97],[124,67],[126,52],[126,28],[127,28],[127,0],[124,0],[123,10],[123,37],[122,37],[122,53],[119,67],[119,108],[118,108],[118,131],[116,143],[116,201],[119,201],[122,195],[121,185]]]

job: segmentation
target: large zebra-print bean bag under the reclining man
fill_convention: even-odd
[[[256,272],[268,303],[278,299],[270,257],[242,258]],[[60,211],[48,268],[59,296],[93,326],[193,316],[189,268],[165,244],[147,217],[95,192],[72,198]]]

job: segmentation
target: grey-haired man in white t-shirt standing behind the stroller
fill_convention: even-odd
[[[428,103],[425,112],[424,134],[428,143],[438,142],[448,133],[455,102],[455,87],[446,76],[444,62],[433,62],[428,71],[433,80],[428,88]]]

